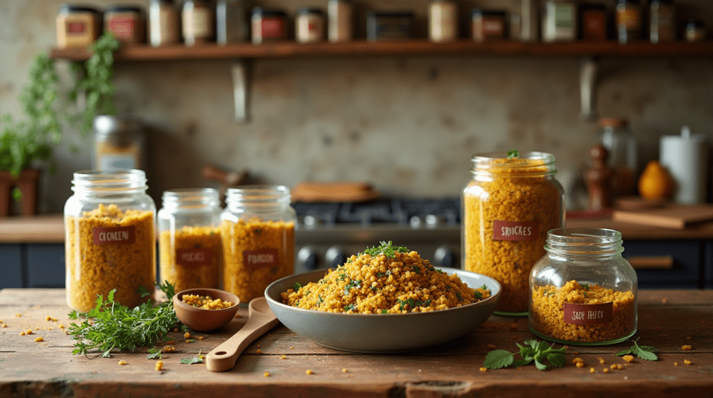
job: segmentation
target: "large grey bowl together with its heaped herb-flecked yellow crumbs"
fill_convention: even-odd
[[[366,353],[448,342],[470,334],[493,314],[501,293],[493,278],[437,268],[414,251],[385,245],[331,271],[275,281],[265,289],[267,303],[297,335]]]

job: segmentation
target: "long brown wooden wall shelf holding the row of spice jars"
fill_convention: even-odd
[[[84,61],[91,53],[86,49],[68,48],[51,50],[52,58]],[[280,41],[253,45],[236,43],[227,46],[210,44],[187,47],[183,45],[151,47],[147,45],[124,46],[116,53],[117,61],[175,61],[236,58],[306,58],[351,56],[614,56],[614,57],[677,57],[713,56],[713,42],[705,43],[475,43],[469,40],[452,43],[432,43],[427,40],[411,41],[351,41],[348,43],[299,44]]]

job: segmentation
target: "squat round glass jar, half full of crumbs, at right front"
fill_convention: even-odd
[[[612,229],[555,229],[530,273],[530,331],[570,345],[622,342],[637,328],[637,277]]]

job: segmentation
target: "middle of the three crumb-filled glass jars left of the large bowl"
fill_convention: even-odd
[[[163,192],[158,211],[161,279],[175,291],[220,288],[220,194],[212,188]]]

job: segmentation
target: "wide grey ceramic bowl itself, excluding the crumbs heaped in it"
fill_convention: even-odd
[[[327,313],[284,305],[279,293],[294,283],[304,286],[319,281],[327,271],[317,270],[271,283],[265,289],[265,298],[283,325],[319,345],[366,353],[416,350],[473,332],[490,318],[500,298],[500,283],[493,278],[455,268],[438,269],[456,273],[471,288],[487,286],[491,297],[447,310],[405,314]]]

